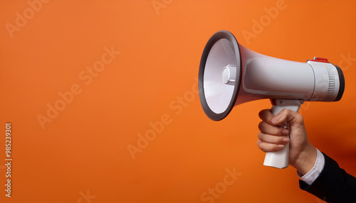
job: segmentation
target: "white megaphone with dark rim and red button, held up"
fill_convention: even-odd
[[[201,55],[199,98],[206,116],[224,119],[234,106],[271,99],[272,114],[297,111],[303,101],[339,101],[345,89],[342,70],[327,59],[293,62],[253,52],[229,31],[211,36]],[[286,124],[288,126],[288,124]],[[287,168],[289,143],[267,152],[263,165]]]

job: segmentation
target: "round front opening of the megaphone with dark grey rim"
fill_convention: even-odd
[[[225,67],[231,72],[229,84],[224,83]],[[199,66],[199,98],[206,116],[211,120],[224,119],[233,109],[241,82],[241,55],[239,43],[229,31],[219,31],[211,36],[201,55]],[[232,85],[231,85],[232,82]]]

